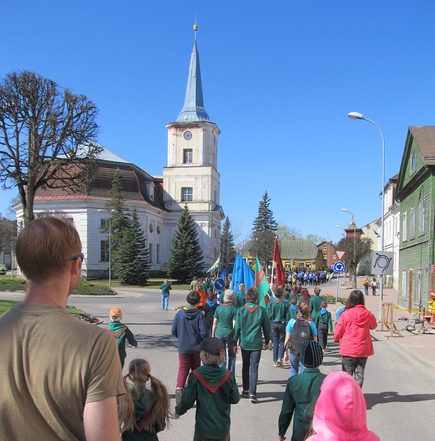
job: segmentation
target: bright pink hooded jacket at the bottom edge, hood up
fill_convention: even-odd
[[[306,441],[379,441],[367,429],[364,395],[347,372],[331,372],[315,404],[313,430]]]

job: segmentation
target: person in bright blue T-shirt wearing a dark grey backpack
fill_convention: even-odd
[[[284,362],[289,364],[288,346],[290,344],[290,377],[299,372],[301,345],[303,342],[314,340],[317,342],[317,329],[311,319],[310,307],[305,303],[298,305],[295,319],[290,319],[286,327],[286,341],[284,342]],[[304,365],[300,365],[301,373]]]

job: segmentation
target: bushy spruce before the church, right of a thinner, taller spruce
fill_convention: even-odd
[[[122,285],[144,286],[150,268],[149,252],[136,208],[133,208],[128,224],[116,251],[113,251],[113,267]]]

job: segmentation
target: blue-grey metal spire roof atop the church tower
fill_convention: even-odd
[[[201,71],[199,69],[199,53],[198,48],[196,47],[195,40],[189,66],[189,76],[187,78],[184,106],[181,109],[181,112],[178,114],[176,123],[197,121],[210,122],[210,119],[204,109],[204,100],[202,98]]]

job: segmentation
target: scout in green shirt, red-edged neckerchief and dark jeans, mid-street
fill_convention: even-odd
[[[239,308],[234,325],[234,351],[242,349],[242,396],[249,397],[252,403],[257,403],[258,365],[263,348],[262,329],[266,344],[270,341],[270,320],[266,309],[257,304],[257,288],[246,291],[246,304]]]

